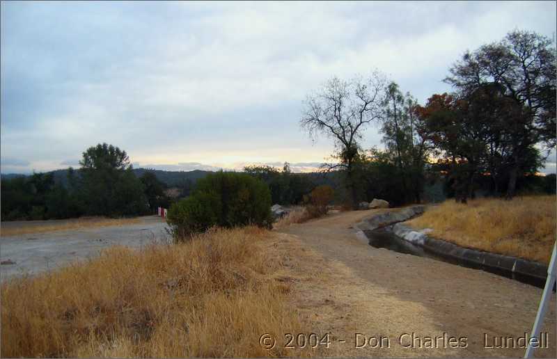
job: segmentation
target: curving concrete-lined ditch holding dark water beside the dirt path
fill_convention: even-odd
[[[413,206],[384,212],[366,218],[356,227],[366,235],[370,246],[375,248],[428,257],[467,268],[480,269],[536,287],[544,287],[547,278],[547,266],[544,264],[463,248],[428,236],[431,230],[414,230],[402,223],[420,216],[424,211],[424,206]]]

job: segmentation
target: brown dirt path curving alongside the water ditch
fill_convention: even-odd
[[[293,277],[292,305],[315,333],[331,333],[329,349],[320,346],[321,355],[524,356],[521,348],[485,346],[530,331],[542,289],[372,248],[356,237],[352,225],[374,213],[343,212],[278,231],[290,253],[285,266]],[[538,349],[536,356],[556,356],[555,308],[553,294],[542,330],[549,349]],[[362,334],[357,343],[356,333]],[[367,345],[356,348],[363,336]]]

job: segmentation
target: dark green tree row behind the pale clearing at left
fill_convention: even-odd
[[[90,147],[80,165],[79,170],[68,170],[65,184],[56,182],[52,173],[2,179],[2,220],[134,216],[168,207],[166,185],[149,171],[137,177],[118,147]]]

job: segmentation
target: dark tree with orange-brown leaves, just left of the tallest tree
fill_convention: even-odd
[[[437,157],[448,170],[455,199],[473,198],[480,176],[489,174],[494,193],[501,178],[510,177],[512,143],[508,124],[522,115],[521,106],[504,95],[496,83],[486,83],[470,93],[433,95],[418,106],[425,135],[437,149]],[[540,154],[533,144],[521,154],[519,172],[535,173]]]

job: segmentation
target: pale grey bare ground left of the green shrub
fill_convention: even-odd
[[[161,218],[146,216],[140,220],[132,225],[0,237],[0,261],[3,263],[0,264],[0,280],[47,271],[74,260],[84,260],[109,246],[140,247],[152,241],[167,239],[166,223]],[[36,223],[22,225],[45,224],[45,221],[33,222]]]

